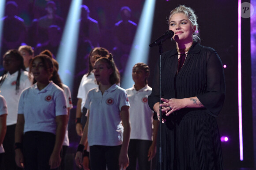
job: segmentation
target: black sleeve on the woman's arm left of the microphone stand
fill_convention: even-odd
[[[151,95],[148,96],[148,105],[151,108],[152,111],[154,111],[153,107],[155,103],[158,103],[160,101],[160,94],[159,94],[159,89],[160,89],[160,73],[159,73],[159,60],[156,64],[156,67],[154,69],[154,78],[152,82],[152,92]],[[156,112],[154,112],[154,120],[157,120],[157,115]]]

